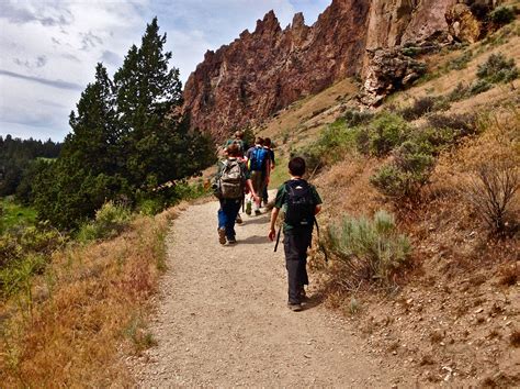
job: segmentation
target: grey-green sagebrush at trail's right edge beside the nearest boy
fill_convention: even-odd
[[[347,290],[362,282],[389,286],[411,252],[408,238],[397,232],[394,216],[385,211],[373,220],[344,216],[327,230],[327,246],[337,259],[336,281]]]

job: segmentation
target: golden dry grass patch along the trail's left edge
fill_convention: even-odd
[[[154,344],[147,304],[165,269],[169,210],[138,218],[112,241],[56,253],[35,281],[32,314],[2,308],[0,381],[5,387],[126,386],[122,354]]]

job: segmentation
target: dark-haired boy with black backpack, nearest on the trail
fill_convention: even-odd
[[[301,311],[302,302],[306,299],[307,248],[310,247],[313,240],[315,216],[321,211],[321,199],[316,188],[303,179],[305,170],[305,159],[301,157],[295,157],[289,163],[291,179],[278,190],[269,230],[269,238],[274,241],[275,222],[280,209],[283,209],[285,212],[283,248],[289,284],[287,304],[293,311]],[[278,238],[280,238],[280,232]]]

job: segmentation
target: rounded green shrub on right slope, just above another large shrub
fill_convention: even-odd
[[[406,121],[394,113],[382,113],[371,124],[361,130],[357,136],[361,153],[382,157],[406,141],[409,126]]]

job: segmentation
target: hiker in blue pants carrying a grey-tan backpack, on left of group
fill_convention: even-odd
[[[246,164],[240,160],[240,149],[237,144],[226,148],[226,159],[218,163],[218,171],[213,182],[215,196],[221,201],[218,210],[218,242],[221,244],[237,243],[235,222],[247,187],[255,200],[259,200],[252,187]]]

